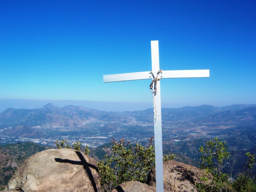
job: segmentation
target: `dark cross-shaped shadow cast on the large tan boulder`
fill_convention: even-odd
[[[91,170],[89,169],[89,167],[95,169],[98,173],[99,173],[99,170],[96,166],[88,163],[85,158],[83,157],[83,155],[81,154],[81,152],[79,151],[76,151],[76,154],[78,155],[78,157],[80,158],[81,161],[72,161],[70,159],[61,159],[61,158],[55,158],[55,161],[56,162],[59,162],[59,163],[71,163],[73,165],[83,165],[83,168],[84,170],[86,171],[86,173],[88,174],[88,177],[92,183],[92,186],[93,186],[93,189],[95,192],[98,192],[97,190],[97,186],[96,186],[96,183],[95,183],[95,180],[93,178],[93,175],[92,175],[92,172]]]

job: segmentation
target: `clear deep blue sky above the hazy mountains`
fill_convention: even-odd
[[[255,1],[1,1],[0,99],[152,102],[150,80],[103,74],[210,69],[163,79],[169,106],[256,103]]]

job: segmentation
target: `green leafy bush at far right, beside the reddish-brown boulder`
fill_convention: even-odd
[[[203,176],[195,184],[195,188],[200,192],[256,192],[255,177],[252,177],[252,168],[256,164],[255,154],[245,154],[247,161],[232,183],[230,176],[223,170],[226,165],[230,165],[228,160],[231,155],[227,148],[225,142],[217,137],[214,141],[207,141],[206,146],[200,146],[199,152],[202,155],[199,158],[199,167],[203,171]]]

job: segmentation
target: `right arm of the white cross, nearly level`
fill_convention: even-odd
[[[209,69],[163,71],[161,78],[210,77]]]

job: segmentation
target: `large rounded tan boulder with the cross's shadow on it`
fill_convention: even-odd
[[[16,170],[5,191],[97,192],[100,176],[96,161],[78,150],[38,152]]]

